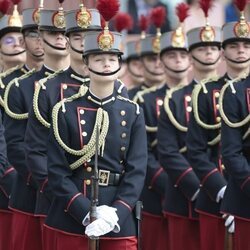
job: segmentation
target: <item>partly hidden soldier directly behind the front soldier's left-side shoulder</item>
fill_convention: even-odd
[[[85,16],[88,18],[84,19]],[[52,199],[47,171],[47,138],[52,108],[60,100],[77,93],[82,84],[89,82],[89,78],[86,78],[88,69],[82,60],[84,32],[101,30],[98,11],[88,10],[83,5],[78,10],[67,12],[65,21],[70,67],[54,75],[52,79],[50,76],[42,79],[37,85],[25,135],[28,169],[38,184],[35,214],[41,217],[41,226]]]

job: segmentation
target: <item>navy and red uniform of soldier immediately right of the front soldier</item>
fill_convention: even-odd
[[[154,39],[155,36],[148,36],[141,40],[142,57],[155,56],[160,52],[153,49]],[[168,245],[167,221],[162,214],[168,177],[158,161],[156,139],[158,117],[167,89],[168,86],[164,83],[161,86],[141,90],[134,97],[144,112],[148,141],[147,176],[142,192],[142,249],[144,250],[167,249]]]

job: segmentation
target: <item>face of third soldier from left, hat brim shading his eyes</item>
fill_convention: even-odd
[[[41,32],[42,39],[46,40],[49,44],[58,47],[58,48],[66,48],[67,47],[67,39],[62,32],[56,31],[42,31]],[[43,47],[45,54],[51,56],[68,56],[69,51],[66,50],[56,50],[51,48],[49,45],[43,42]]]

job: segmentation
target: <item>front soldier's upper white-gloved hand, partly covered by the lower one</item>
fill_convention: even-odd
[[[115,222],[118,221],[118,217],[116,214],[116,208],[114,207],[109,207],[107,205],[102,205],[102,206],[98,206],[96,207],[96,217],[97,219],[99,218],[103,218],[104,220],[109,220],[111,217],[114,219]],[[84,226],[89,225],[90,223],[90,213],[87,213],[87,215],[85,216],[85,218],[82,221],[82,224]]]

